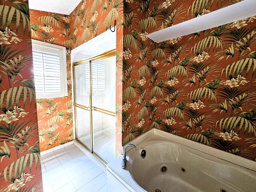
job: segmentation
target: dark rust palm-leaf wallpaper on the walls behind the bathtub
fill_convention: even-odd
[[[122,144],[157,128],[256,160],[256,17],[146,36],[236,2],[124,1]]]

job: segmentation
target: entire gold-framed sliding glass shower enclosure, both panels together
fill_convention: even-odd
[[[104,164],[115,158],[115,51],[73,63],[76,140]]]

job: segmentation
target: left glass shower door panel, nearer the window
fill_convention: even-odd
[[[92,151],[89,62],[74,66],[76,138]]]

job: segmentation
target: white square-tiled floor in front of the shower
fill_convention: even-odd
[[[42,155],[44,192],[106,192],[106,175],[74,144]]]

